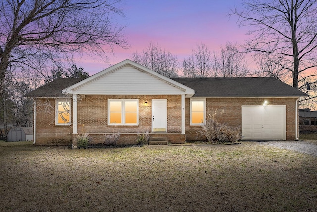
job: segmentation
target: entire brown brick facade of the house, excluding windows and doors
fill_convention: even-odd
[[[138,126],[108,126],[108,99],[139,99]],[[151,100],[167,99],[167,134],[152,136],[168,137],[171,143],[183,143],[190,140],[205,139],[201,136],[199,126],[190,126],[190,99],[185,99],[185,135],[181,135],[181,96],[180,95],[90,95],[78,99],[78,132],[90,133],[94,143],[102,143],[104,133],[120,132],[118,144],[132,144],[136,141],[137,132],[151,133]],[[241,125],[242,105],[262,105],[264,100],[269,105],[286,105],[286,139],[295,139],[295,98],[207,98],[206,116],[212,111],[223,110],[220,121],[231,126]],[[45,108],[48,101],[51,109]],[[39,145],[71,145],[76,135],[72,135],[73,126],[55,126],[55,99],[37,99],[36,110],[36,144]],[[71,101],[72,102],[72,101]],[[147,104],[145,105],[145,102]],[[53,108],[53,109],[52,109]],[[71,109],[73,106],[71,106]],[[71,115],[71,119],[73,114]]]

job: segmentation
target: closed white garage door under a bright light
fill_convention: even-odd
[[[286,140],[286,106],[242,106],[243,140]]]

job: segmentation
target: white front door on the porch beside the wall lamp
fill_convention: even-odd
[[[152,100],[152,132],[167,132],[167,100]]]

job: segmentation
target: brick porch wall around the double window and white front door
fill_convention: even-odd
[[[108,99],[139,99],[138,126],[108,126]],[[86,96],[78,101],[78,131],[86,133],[151,132],[152,99],[167,99],[167,132],[181,133],[181,96]],[[147,104],[145,105],[145,102]]]

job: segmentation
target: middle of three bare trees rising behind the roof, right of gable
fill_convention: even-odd
[[[183,61],[184,77],[210,77],[211,76],[211,52],[209,48],[201,43],[197,49],[192,50],[189,57]]]

